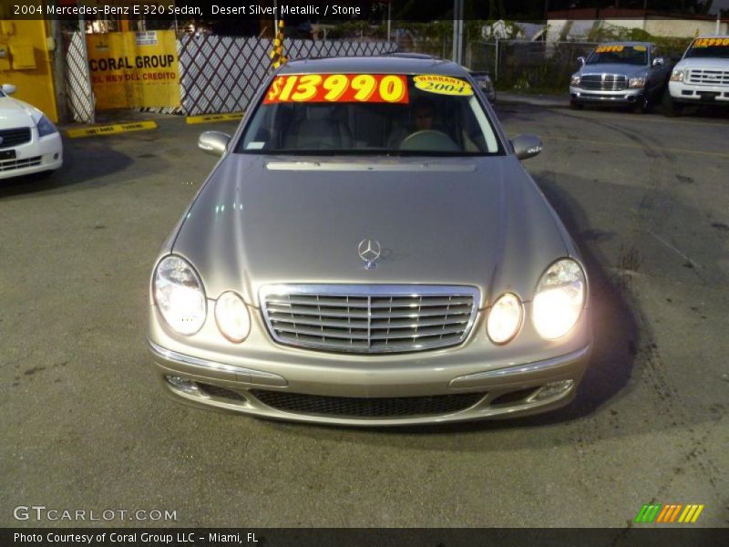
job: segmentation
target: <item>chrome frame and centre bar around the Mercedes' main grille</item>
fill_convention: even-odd
[[[368,299],[367,309],[367,347],[347,347],[332,346],[326,343],[315,343],[308,341],[293,342],[290,339],[282,338],[276,333],[275,327],[272,325],[271,318],[268,313],[269,296],[275,294],[324,294],[340,297],[363,297]],[[464,327],[463,335],[457,340],[450,340],[446,343],[442,341],[430,344],[399,344],[386,347],[372,348],[369,343],[370,326],[372,323],[372,307],[369,304],[372,298],[378,297],[418,297],[418,296],[439,296],[439,295],[467,295],[473,299],[470,314],[468,315],[467,325]],[[478,304],[480,303],[480,292],[476,287],[468,285],[416,285],[416,284],[270,284],[263,285],[259,291],[259,301],[261,302],[261,311],[263,320],[266,323],[269,334],[273,340],[284,346],[302,347],[306,349],[317,349],[333,353],[355,353],[361,355],[377,355],[388,353],[405,353],[423,351],[426,349],[439,349],[448,346],[457,346],[467,339],[471,333],[471,329],[476,322],[478,314]],[[364,319],[364,317],[363,317]]]

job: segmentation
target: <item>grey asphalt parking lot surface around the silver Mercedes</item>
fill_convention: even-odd
[[[43,505],[176,517],[80,523],[117,526],[626,527],[651,502],[729,525],[729,119],[498,116],[543,139],[524,165],[588,262],[595,349],[570,407],[361,429],[163,397],[150,270],[215,163],[198,134],[236,124],[160,118],[67,139],[49,179],[0,182],[0,525],[79,524],[14,517]]]

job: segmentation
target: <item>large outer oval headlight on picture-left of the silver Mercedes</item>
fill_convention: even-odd
[[[180,335],[194,335],[205,323],[205,290],[190,263],[180,256],[167,256],[157,264],[154,301],[167,324]]]

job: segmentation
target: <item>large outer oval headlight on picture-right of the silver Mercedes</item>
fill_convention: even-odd
[[[565,258],[541,276],[532,301],[532,322],[542,338],[554,340],[570,332],[585,304],[585,274]]]

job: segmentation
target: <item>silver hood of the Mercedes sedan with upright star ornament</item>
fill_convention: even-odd
[[[382,254],[364,268],[358,246]],[[180,225],[172,252],[210,298],[263,284],[467,284],[530,300],[567,254],[556,214],[514,156],[291,160],[229,154]]]

